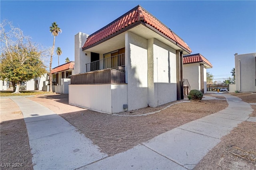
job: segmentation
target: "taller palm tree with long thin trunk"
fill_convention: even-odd
[[[58,27],[58,24],[56,22],[53,22],[52,23],[52,26],[50,26],[50,32],[52,33],[53,35],[53,45],[52,45],[52,53],[51,53],[51,59],[50,59],[50,68],[49,68],[49,71],[50,71],[50,76],[49,76],[49,79],[50,79],[50,92],[52,92],[52,55],[53,55],[53,51],[54,51],[54,45],[55,45],[55,37],[58,36],[58,34],[60,32],[62,32],[62,30]]]

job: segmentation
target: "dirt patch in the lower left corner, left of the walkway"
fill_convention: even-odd
[[[28,133],[20,108],[11,99],[1,98],[0,109],[0,169],[33,169]]]

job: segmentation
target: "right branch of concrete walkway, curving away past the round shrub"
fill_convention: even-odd
[[[193,169],[196,164],[242,121],[253,109],[240,98],[222,94],[228,107],[186,123],[133,149],[108,157],[82,169]]]

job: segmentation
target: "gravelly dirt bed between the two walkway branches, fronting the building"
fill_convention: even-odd
[[[74,106],[67,105],[68,96],[62,99],[59,98],[59,95],[30,99],[58,113],[82,131],[86,137],[91,139],[95,145],[98,145],[108,155],[114,155],[131,149],[139,143],[146,142],[161,133],[189,121],[216,113],[228,106],[226,100],[192,101],[175,104],[152,115],[124,117],[86,109],[74,111],[72,109]],[[127,111],[126,115],[150,113],[166,106],[168,104],[157,108],[146,107],[144,109]]]

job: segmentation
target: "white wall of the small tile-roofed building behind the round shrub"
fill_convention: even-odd
[[[188,83],[190,84],[191,90],[200,90],[200,64],[184,64],[183,78],[188,79]]]

